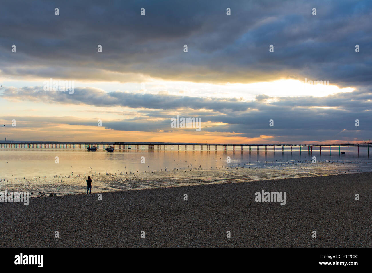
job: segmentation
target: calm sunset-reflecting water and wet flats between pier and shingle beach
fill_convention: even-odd
[[[0,190],[74,194],[96,191],[230,182],[372,171],[367,149],[256,152],[120,151],[0,149]],[[311,163],[313,156],[317,163]],[[59,163],[55,163],[58,157]],[[227,157],[231,163],[227,163]],[[141,163],[141,160],[145,163]],[[35,195],[34,195],[35,196]]]

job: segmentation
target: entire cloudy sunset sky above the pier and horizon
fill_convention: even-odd
[[[370,0],[3,0],[0,140],[368,142],[371,20]]]

